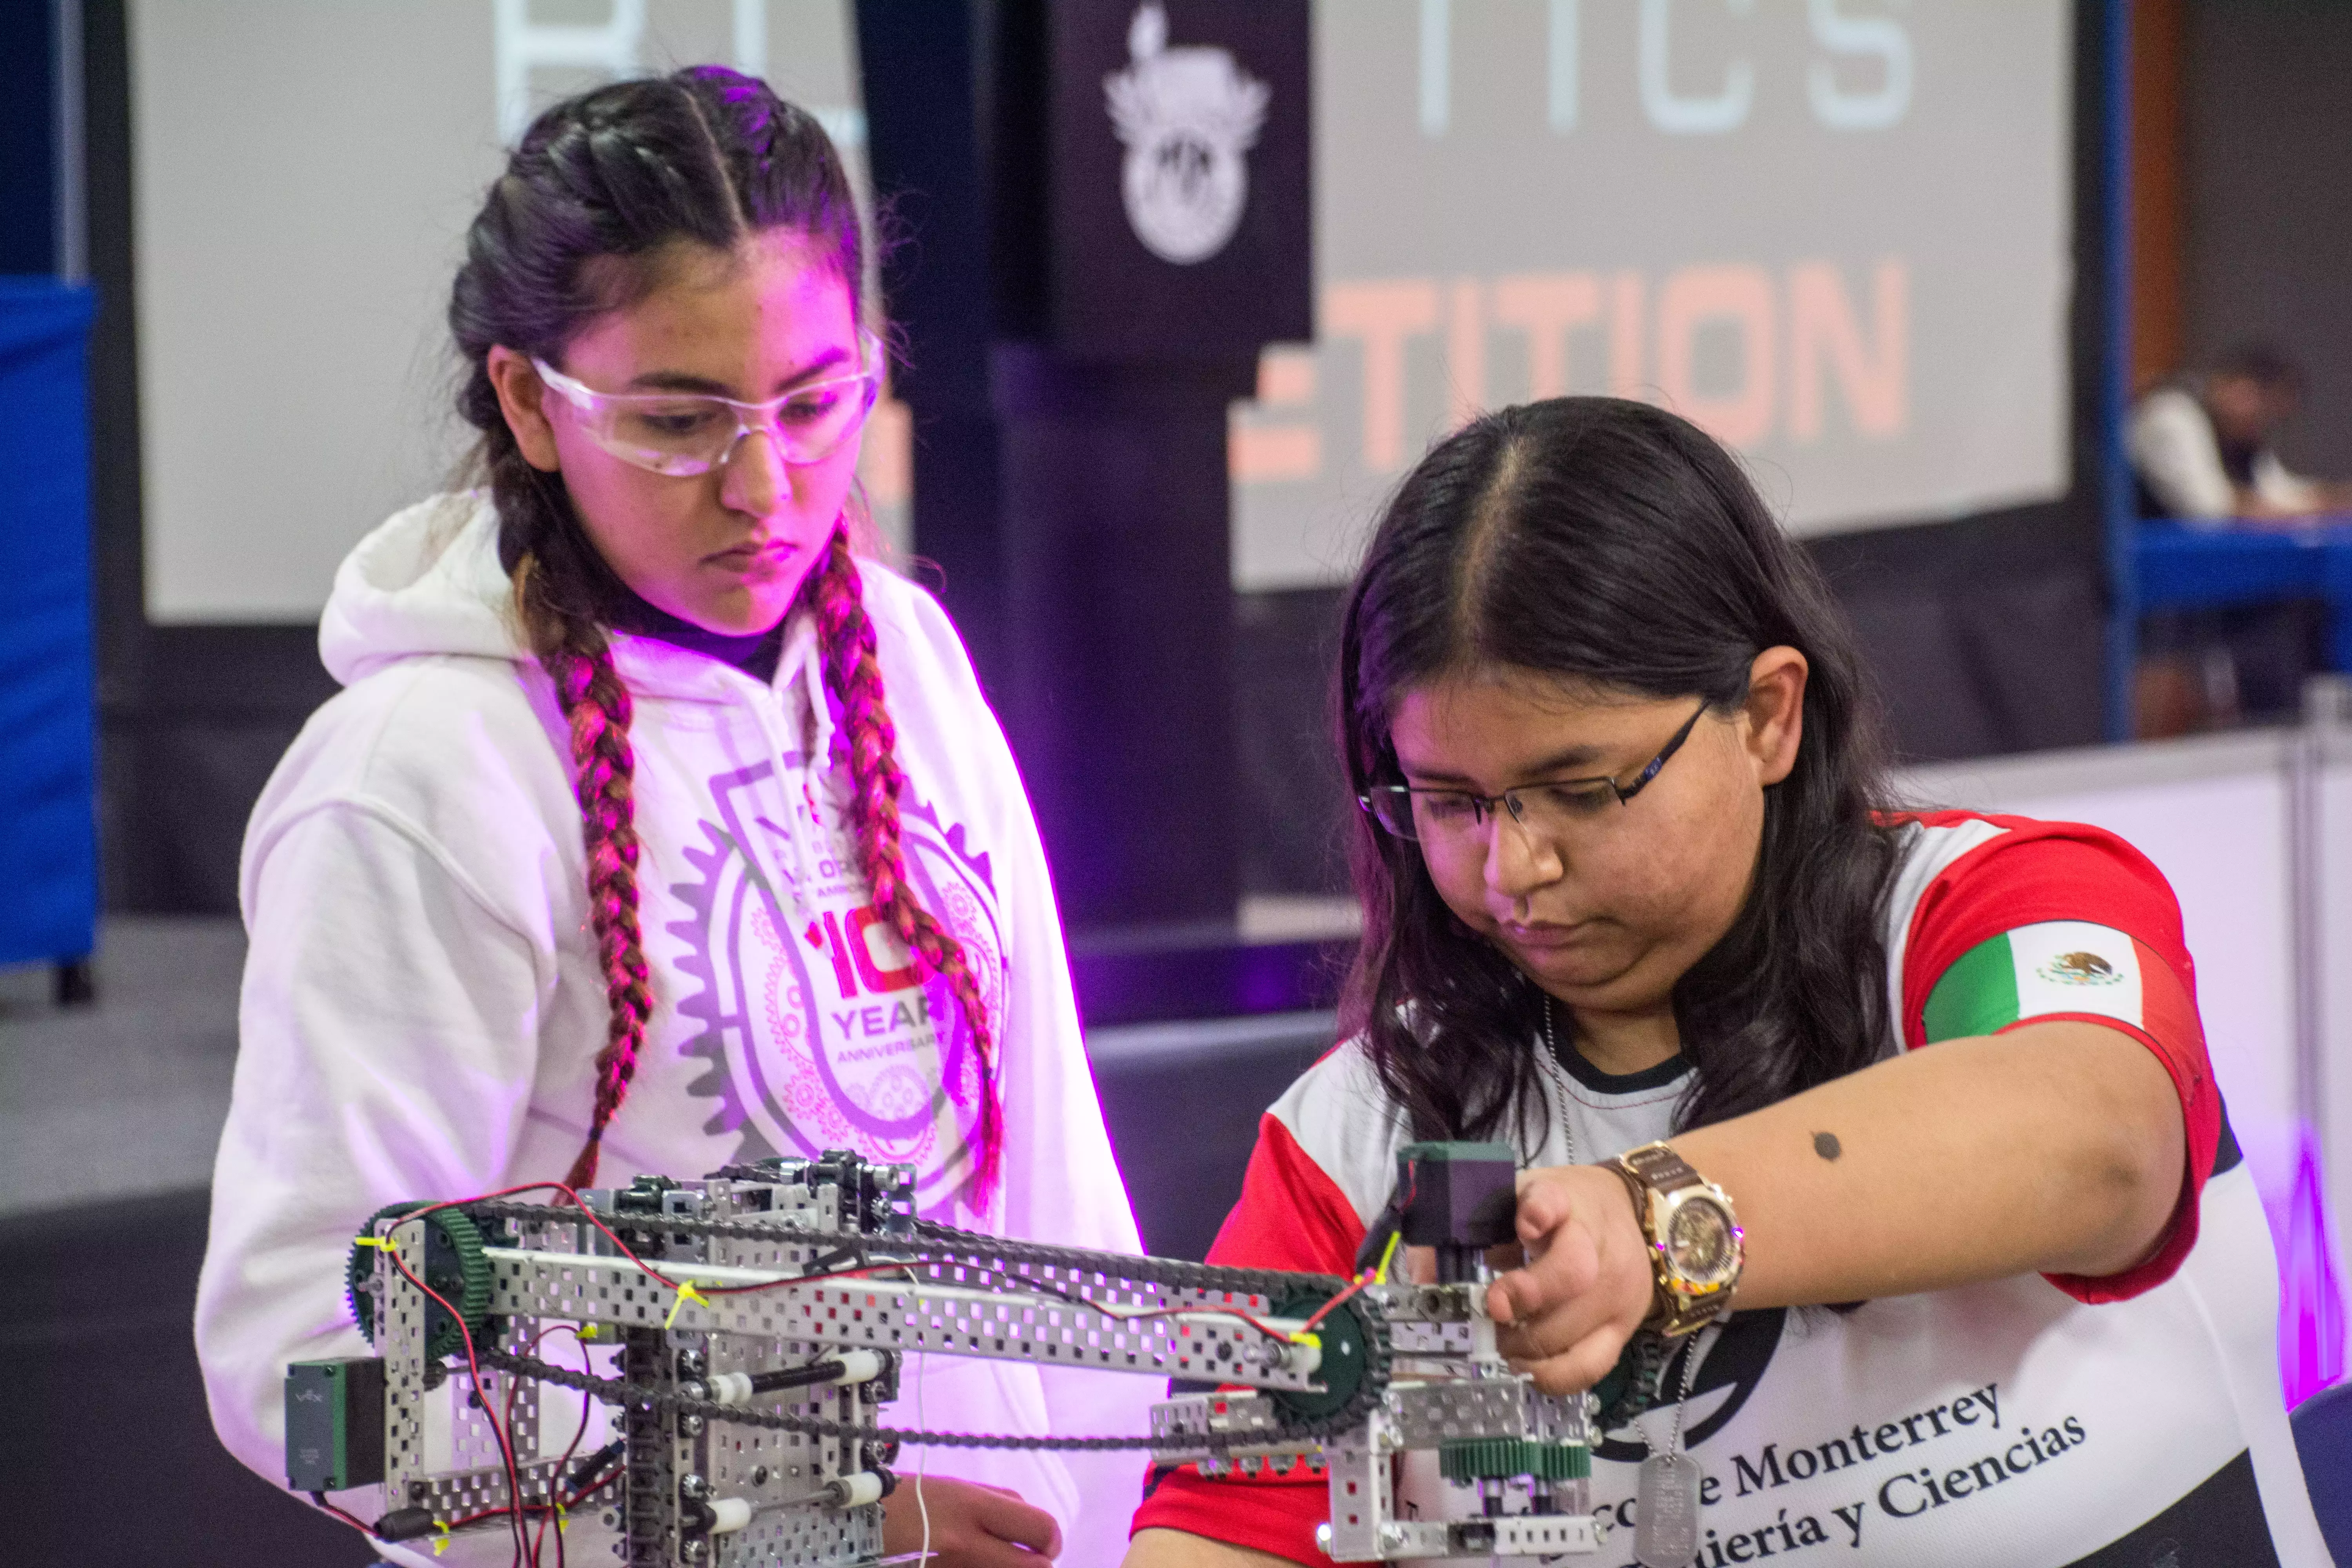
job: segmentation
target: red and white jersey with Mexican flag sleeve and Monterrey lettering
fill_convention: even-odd
[[[1900,832],[1884,1053],[2053,1018],[2131,1034],[2180,1091],[2180,1208],[2164,1246],[2110,1279],[1738,1312],[1698,1335],[1684,1410],[1705,1467],[1696,1561],[2324,1568],[2279,1392],[2277,1260],[2213,1086],[2171,889],[2098,827],[1952,811]],[[1524,1164],[1672,1133],[1679,1058],[1606,1077],[1564,1056],[1538,1074],[1548,1133]],[[1265,1112],[1211,1262],[1352,1272],[1409,1140],[1359,1044],[1338,1046]],[[1679,1382],[1677,1361],[1668,1387]],[[1672,1410],[1644,1420],[1663,1446]],[[1630,1563],[1644,1453],[1635,1429],[1595,1450],[1602,1554],[1588,1561]],[[1136,1528],[1327,1563],[1324,1512],[1319,1476],[1204,1481],[1185,1467],[1155,1476]]]

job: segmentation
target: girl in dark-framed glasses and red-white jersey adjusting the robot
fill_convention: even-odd
[[[1599,1392],[1592,1561],[2328,1561],[2171,889],[2098,827],[1891,809],[1851,632],[1726,451],[1602,397],[1470,423],[1381,517],[1338,686],[1345,1039],[1214,1262],[1374,1267],[1402,1145],[1505,1143],[1484,1300]],[[1327,1495],[1155,1474],[1127,1563],[1324,1563]]]

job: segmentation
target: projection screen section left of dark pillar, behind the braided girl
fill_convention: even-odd
[[[536,108],[739,63],[816,110],[863,181],[844,0],[132,0],[129,24],[158,623],[315,621],[350,545],[456,477],[449,277]],[[903,428],[877,435],[903,458]],[[889,503],[903,463],[884,468],[868,489]]]

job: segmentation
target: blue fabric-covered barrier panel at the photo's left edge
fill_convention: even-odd
[[[87,287],[0,277],[0,964],[96,945],[92,308]]]

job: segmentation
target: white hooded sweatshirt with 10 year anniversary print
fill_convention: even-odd
[[[597,1185],[851,1147],[915,1161],[927,1215],[1131,1253],[1011,752],[938,604],[884,569],[863,578],[908,780],[908,875],[971,954],[1002,1041],[1000,1192],[971,1208],[978,1077],[955,1001],[943,980],[915,985],[873,924],[807,614],[767,686],[614,637],[635,696],[654,1018]],[[360,541],[320,623],[346,691],[303,726],[245,835],[252,950],[195,1342],[221,1441],[280,1486],[285,1366],[367,1354],[341,1284],[358,1225],[395,1199],[560,1178],[588,1131],[607,1011],[567,726],[506,604],[480,496],[426,501]],[[948,1093],[929,1018],[950,1025]],[[922,1422],[967,1432],[1143,1432],[1157,1396],[1143,1378],[934,1359],[910,1368],[903,1425],[917,1382]],[[927,1460],[1056,1514],[1073,1568],[1124,1554],[1134,1455]],[[506,1561],[510,1540],[477,1554]]]

